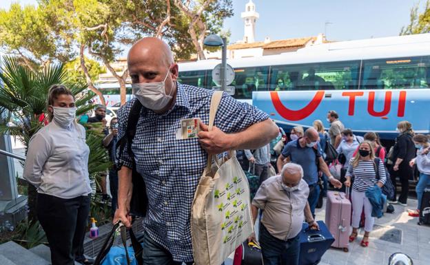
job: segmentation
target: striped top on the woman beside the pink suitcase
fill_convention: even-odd
[[[352,185],[352,189],[354,191],[365,192],[367,189],[369,189],[369,187],[375,186],[378,181],[385,184],[387,177],[385,176],[384,163],[382,163],[381,160],[379,160],[378,165],[380,176],[379,180],[376,176],[375,162],[373,162],[373,160],[360,160],[358,161],[357,167],[352,167],[353,160],[354,158],[349,161],[349,167],[346,176],[354,177],[354,184]]]

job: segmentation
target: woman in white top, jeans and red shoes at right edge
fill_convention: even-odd
[[[413,158],[409,165],[413,167],[416,165],[418,171],[420,171],[420,178],[418,179],[418,184],[416,185],[416,193],[418,199],[418,206],[416,211],[409,211],[409,215],[413,217],[420,216],[420,207],[422,202],[422,195],[424,194],[424,189],[430,188],[430,144],[429,138],[424,136],[424,134],[417,134],[413,136],[413,142],[415,143],[417,151],[416,158]]]

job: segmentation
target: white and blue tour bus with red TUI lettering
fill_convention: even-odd
[[[212,89],[220,60],[179,65],[179,82]],[[400,120],[428,134],[430,34],[324,43],[296,52],[227,60],[234,97],[255,105],[284,129],[310,127],[335,110],[345,127],[393,140]]]

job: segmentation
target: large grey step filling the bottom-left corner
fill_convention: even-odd
[[[50,265],[48,260],[39,257],[13,241],[0,245],[0,255],[10,259],[14,265]]]

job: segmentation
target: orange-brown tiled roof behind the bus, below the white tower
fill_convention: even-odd
[[[289,47],[302,47],[305,46],[309,41],[316,41],[316,37],[310,36],[299,39],[283,39],[279,41],[270,41],[269,43],[264,43],[264,41],[257,41],[254,43],[236,43],[228,45],[227,48],[229,50],[250,49],[256,47],[262,47],[263,49],[281,49]]]

